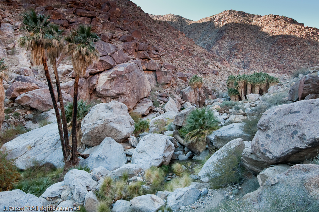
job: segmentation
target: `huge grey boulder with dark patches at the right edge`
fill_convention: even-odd
[[[318,155],[319,99],[283,104],[267,110],[258,122],[252,151],[270,164],[300,163]]]

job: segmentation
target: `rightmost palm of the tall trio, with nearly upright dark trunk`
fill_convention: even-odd
[[[86,68],[99,58],[99,52],[94,42],[100,40],[99,36],[91,31],[91,26],[79,25],[65,38],[68,42],[66,52],[71,56],[75,72],[73,114],[72,114],[72,152],[77,151],[77,109],[78,109],[78,82],[83,77]],[[76,154],[72,154],[72,161],[78,164]]]

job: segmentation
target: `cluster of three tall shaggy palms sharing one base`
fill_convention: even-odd
[[[43,64],[54,110],[56,112],[65,162],[64,169],[67,170],[71,166],[78,165],[78,156],[85,158],[88,156],[77,151],[78,81],[79,78],[85,74],[86,68],[99,58],[99,52],[94,45],[94,42],[99,40],[99,36],[92,32],[91,26],[79,25],[75,30],[72,30],[69,35],[63,37],[63,30],[60,29],[60,26],[50,23],[50,16],[37,14],[34,10],[25,12],[22,17],[24,20],[21,29],[26,31],[26,35],[20,37],[18,43],[21,47],[31,51],[31,62],[33,64]],[[72,147],[69,144],[68,123],[65,116],[62,91],[56,66],[57,62],[60,62],[66,55],[71,56],[73,70],[75,72],[72,111]],[[54,70],[58,102],[60,103],[62,113],[62,123],[56,96],[53,91],[53,83],[48,71],[47,60],[52,64]]]

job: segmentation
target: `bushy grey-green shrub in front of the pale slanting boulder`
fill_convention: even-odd
[[[218,160],[212,163],[212,170],[205,173],[212,188],[237,184],[244,179],[246,169],[240,165],[241,153],[242,150],[239,148],[228,148],[219,153]]]

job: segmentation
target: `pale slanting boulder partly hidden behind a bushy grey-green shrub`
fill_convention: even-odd
[[[198,176],[201,177],[201,181],[207,183],[209,178],[208,175],[213,170],[213,163],[218,162],[221,158],[227,156],[227,150],[241,149],[241,151],[245,148],[244,141],[241,138],[234,139],[229,141],[226,145],[220,148],[217,152],[215,152],[211,157],[206,161],[202,170],[198,173]]]

